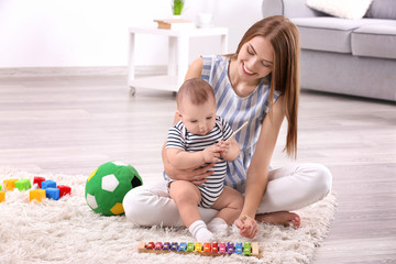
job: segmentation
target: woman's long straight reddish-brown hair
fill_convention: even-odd
[[[285,98],[284,112],[287,119],[287,138],[285,150],[288,156],[297,157],[297,117],[299,98],[299,34],[297,26],[283,15],[265,18],[253,24],[243,35],[237,52],[254,36],[265,37],[274,50],[274,66],[270,74],[270,116],[274,90],[279,90]]]

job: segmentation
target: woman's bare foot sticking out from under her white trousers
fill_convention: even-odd
[[[301,219],[297,213],[288,211],[278,211],[256,215],[255,220],[258,222],[270,223],[270,224],[283,224],[285,227],[295,227],[299,228],[301,224]]]

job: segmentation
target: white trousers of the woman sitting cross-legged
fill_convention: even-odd
[[[182,227],[180,215],[166,184],[162,180],[130,190],[122,202],[125,217],[140,226]],[[331,184],[330,170],[320,164],[293,164],[272,169],[257,213],[293,211],[311,205],[329,194]],[[199,211],[205,222],[218,213],[200,207]]]

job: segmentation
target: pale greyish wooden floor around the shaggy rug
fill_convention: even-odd
[[[172,92],[136,90],[127,77],[0,79],[0,166],[89,175],[108,161],[161,179]],[[282,153],[285,127],[273,166]],[[396,107],[304,91],[297,162],[333,174],[339,209],[315,263],[396,263]]]

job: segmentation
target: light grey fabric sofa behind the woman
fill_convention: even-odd
[[[300,33],[302,89],[396,101],[396,1],[374,0],[363,19],[330,16],[305,0],[264,0]]]

